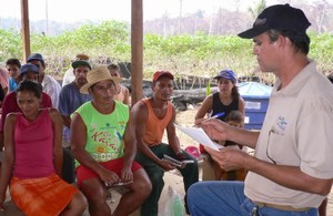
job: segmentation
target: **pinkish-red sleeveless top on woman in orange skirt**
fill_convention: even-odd
[[[53,125],[49,110],[28,122],[18,114],[14,123],[13,176],[19,178],[46,177],[56,173],[53,164]]]

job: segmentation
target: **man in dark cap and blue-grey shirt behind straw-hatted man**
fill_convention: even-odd
[[[80,93],[80,88],[87,83],[87,73],[91,66],[85,60],[77,60],[72,63],[75,80],[61,89],[59,95],[59,111],[62,115],[64,128],[63,140],[69,144],[70,142],[70,115],[83,103],[91,100],[90,94]]]

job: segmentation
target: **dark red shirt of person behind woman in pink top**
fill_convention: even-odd
[[[42,93],[42,104],[41,109],[53,107],[51,97],[47,93]],[[0,133],[3,133],[3,126],[6,116],[8,113],[12,112],[22,112],[17,103],[17,93],[11,92],[7,96],[4,96],[2,102],[2,112],[1,112],[1,122],[0,122]]]

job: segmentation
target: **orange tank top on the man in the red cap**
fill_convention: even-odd
[[[168,101],[167,114],[163,119],[159,119],[155,115],[149,99],[142,100],[142,102],[144,102],[148,107],[148,120],[145,123],[143,141],[148,146],[154,146],[162,142],[164,130],[172,120],[172,103]]]

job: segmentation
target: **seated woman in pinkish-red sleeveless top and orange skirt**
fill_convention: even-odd
[[[22,81],[17,103],[4,123],[4,161],[0,181],[0,209],[10,186],[13,203],[26,215],[81,215],[87,200],[61,179],[62,119],[56,109],[40,109],[42,86]]]

